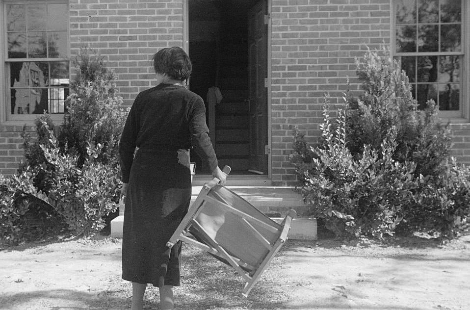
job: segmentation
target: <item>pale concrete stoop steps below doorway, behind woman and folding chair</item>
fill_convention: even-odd
[[[297,216],[290,226],[288,234],[290,239],[315,240],[317,238],[316,219],[304,216],[307,213],[307,206],[304,205],[302,197],[292,190],[292,187],[227,186],[227,188],[278,223],[282,222],[289,210],[295,210]],[[191,203],[196,200],[201,189],[202,186],[192,187]],[[123,214],[111,221],[111,236],[122,237],[123,221]]]

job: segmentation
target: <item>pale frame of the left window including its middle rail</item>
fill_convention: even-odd
[[[6,41],[7,34],[7,10],[6,6],[8,4],[31,4],[31,1],[28,0],[0,0],[0,46],[3,48],[3,51],[0,52],[0,68],[3,71],[3,74],[0,74],[0,122],[3,125],[24,125],[25,123],[30,125],[37,119],[41,114],[11,114],[11,102],[10,102],[10,66],[8,62],[15,61],[24,61],[24,62],[34,62],[34,61],[67,61],[69,62],[69,80],[71,78],[71,68],[70,68],[70,3],[68,0],[39,0],[34,4],[65,4],[67,6],[67,55],[66,57],[43,57],[43,58],[12,58],[8,59],[8,45]],[[60,87],[47,87],[47,89],[60,88]],[[69,88],[70,90],[70,88]],[[51,114],[51,119],[54,122],[61,122],[63,120],[64,113],[53,113]]]

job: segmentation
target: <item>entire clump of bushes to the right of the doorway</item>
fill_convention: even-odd
[[[304,202],[338,236],[454,236],[470,217],[470,170],[450,157],[449,126],[440,124],[434,102],[417,108],[387,49],[367,51],[357,68],[365,93],[345,94],[336,124],[325,102],[318,146],[294,131],[290,161]]]

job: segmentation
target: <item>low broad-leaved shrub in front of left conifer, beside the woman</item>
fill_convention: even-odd
[[[47,129],[46,123],[44,127]],[[54,172],[47,174],[46,182],[51,188],[47,203],[74,232],[85,235],[98,232],[104,227],[103,216],[117,209],[119,169],[97,160],[102,151],[101,144],[89,144],[85,161],[78,165],[78,155],[60,152],[52,130],[49,134],[50,144],[41,145]]]

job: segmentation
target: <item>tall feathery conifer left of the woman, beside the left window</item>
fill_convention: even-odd
[[[87,157],[89,143],[103,145],[98,160],[118,162],[118,144],[128,109],[116,92],[116,77],[107,70],[99,55],[90,55],[81,49],[74,61],[77,72],[71,83],[71,95],[66,100],[67,110],[59,133],[62,149],[74,149],[78,164]]]

